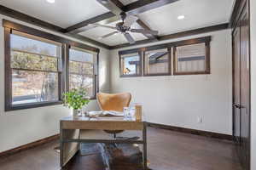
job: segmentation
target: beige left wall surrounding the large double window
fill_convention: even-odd
[[[2,19],[11,20],[0,15],[0,152],[13,149],[22,144],[31,143],[59,133],[59,120],[68,116],[70,111],[62,105],[42,107],[20,111],[4,111],[4,51]],[[17,20],[13,20],[19,22]],[[20,22],[23,25],[25,23]],[[31,26],[31,25],[26,25]],[[35,26],[32,26],[35,27]],[[35,27],[38,28],[38,27]],[[40,29],[40,28],[38,28]],[[43,29],[40,29],[43,30]],[[44,30],[45,31],[45,30]],[[50,33],[54,33],[49,31]],[[58,34],[57,34],[58,35]],[[75,40],[75,39],[73,39]],[[77,40],[75,40],[77,41]],[[79,41],[78,41],[79,42]],[[100,89],[109,91],[109,51],[101,48],[100,52]],[[96,100],[91,101],[89,110],[98,109]]]

